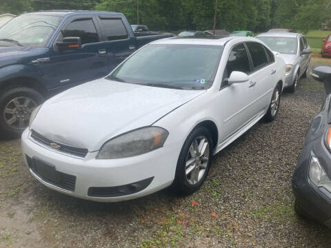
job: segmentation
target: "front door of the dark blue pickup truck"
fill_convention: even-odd
[[[45,68],[53,79],[50,88],[68,87],[106,76],[106,43],[100,34],[92,16],[73,17],[63,26],[56,41],[64,37],[80,37],[81,49],[60,51],[56,42],[50,63]]]

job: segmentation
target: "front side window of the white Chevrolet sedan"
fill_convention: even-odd
[[[234,71],[250,73],[250,61],[243,43],[232,48],[225,68],[225,77],[229,77]]]

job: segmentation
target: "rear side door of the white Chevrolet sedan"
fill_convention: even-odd
[[[274,85],[277,84],[274,56],[268,48],[258,42],[246,43],[253,70],[250,74],[255,114],[269,107]],[[268,52],[270,52],[268,54]]]

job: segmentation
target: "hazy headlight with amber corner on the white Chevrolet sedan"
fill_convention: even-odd
[[[100,149],[98,159],[128,158],[163,147],[168,131],[161,127],[143,127],[112,138]]]

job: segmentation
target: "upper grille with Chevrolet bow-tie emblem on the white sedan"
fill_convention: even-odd
[[[46,138],[46,137],[42,136],[41,134],[38,134],[34,130],[32,130],[30,137],[34,141],[37,141],[38,143],[40,143],[42,145],[46,145],[47,147],[50,147],[51,149],[54,149],[54,148],[52,148],[51,145],[54,145],[54,144],[58,145],[59,149],[54,149],[55,151],[58,151],[58,152],[63,152],[65,154],[78,156],[79,158],[85,158],[86,154],[88,154],[88,149],[72,147],[69,145],[64,145],[61,143],[51,141],[49,138]]]

